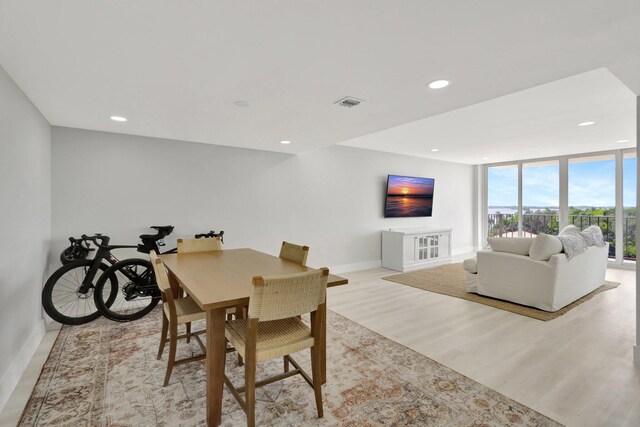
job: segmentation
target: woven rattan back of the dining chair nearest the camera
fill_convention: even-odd
[[[317,310],[324,303],[329,270],[286,276],[254,277],[249,318],[286,319]]]

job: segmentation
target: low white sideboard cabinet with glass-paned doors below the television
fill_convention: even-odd
[[[451,262],[451,229],[382,231],[382,266],[410,271]]]

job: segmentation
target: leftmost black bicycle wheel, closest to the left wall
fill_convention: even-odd
[[[94,283],[90,289],[81,292],[82,282],[85,280],[93,260],[83,259],[73,261],[57,269],[42,289],[42,307],[56,322],[65,325],[82,325],[100,317],[100,312],[94,302]],[[108,270],[109,266],[100,264],[97,275]],[[102,274],[105,293],[115,293],[118,283],[114,276]]]

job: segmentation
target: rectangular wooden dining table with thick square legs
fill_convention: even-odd
[[[206,311],[207,425],[222,421],[222,391],[226,357],[225,315],[228,308],[249,304],[252,278],[313,270],[301,264],[253,249],[165,254],[160,258],[172,286],[184,289]],[[345,285],[345,278],[329,275],[327,287]],[[326,300],[318,307],[325,315]],[[319,334],[322,383],[326,381],[326,323]]]

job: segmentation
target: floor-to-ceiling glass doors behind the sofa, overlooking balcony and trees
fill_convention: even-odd
[[[636,170],[633,149],[486,165],[486,236],[597,225],[609,260],[635,263]]]

